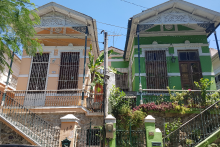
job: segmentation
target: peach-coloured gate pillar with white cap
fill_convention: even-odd
[[[62,141],[64,139],[68,139],[71,141],[70,146],[74,146],[77,138],[76,126],[78,124],[79,119],[75,117],[73,114],[67,114],[63,116],[61,119],[61,128],[60,128],[60,139],[59,139],[59,147],[62,147]]]

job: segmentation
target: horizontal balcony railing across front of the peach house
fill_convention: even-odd
[[[82,90],[27,90],[7,91],[17,103],[25,108],[83,106],[93,112],[103,112],[103,94],[85,92],[82,104]]]

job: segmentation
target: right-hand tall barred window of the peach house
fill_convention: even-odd
[[[61,53],[58,90],[78,88],[79,60],[79,52]]]

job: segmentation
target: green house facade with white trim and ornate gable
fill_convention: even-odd
[[[194,81],[215,80],[207,38],[219,24],[218,12],[167,1],[129,19],[123,60],[111,65],[127,68],[129,91],[197,89]]]

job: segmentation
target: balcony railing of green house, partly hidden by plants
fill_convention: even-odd
[[[178,101],[178,104],[188,105],[192,108],[210,106],[219,100],[220,91],[207,90],[204,95],[202,95],[201,90],[170,90],[170,94],[176,96],[176,92],[183,93],[186,95],[183,96],[183,100]],[[155,103],[161,104],[164,102],[172,102],[170,98],[169,91],[167,89],[143,89],[143,102],[144,103]],[[205,107],[204,107],[205,108]]]

